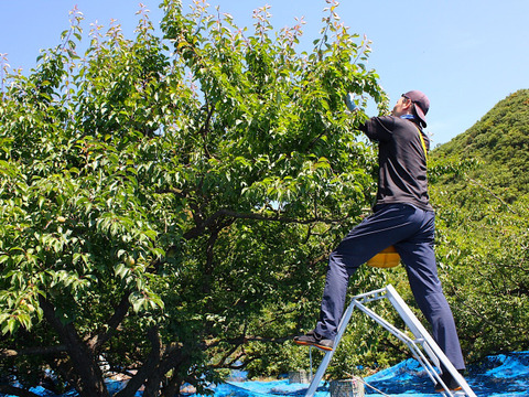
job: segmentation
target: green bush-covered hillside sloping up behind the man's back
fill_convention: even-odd
[[[529,348],[529,89],[433,150],[436,255],[469,361]]]

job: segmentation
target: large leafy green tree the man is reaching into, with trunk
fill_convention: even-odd
[[[94,26],[83,54],[73,12],[36,69],[3,75],[0,393],[108,396],[118,373],[120,397],[173,396],[266,361],[313,321],[323,260],[369,204],[366,115],[343,98],[387,98],[336,3],[311,53],[267,7],[252,33],[162,7],[163,37],[142,10],[133,40]]]

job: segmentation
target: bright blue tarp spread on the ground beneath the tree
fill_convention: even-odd
[[[468,366],[465,377],[468,385],[478,397],[529,397],[529,352],[499,354],[486,357],[482,363]],[[214,397],[271,397],[305,395],[306,384],[290,384],[289,380],[228,382],[215,388]],[[407,360],[388,369],[368,376],[364,379],[368,385],[392,397],[433,397],[441,396],[433,393],[433,383],[415,360]],[[119,382],[108,383],[109,390],[116,393],[122,387]],[[62,396],[51,394],[42,387],[31,389],[42,397],[75,397],[68,393]],[[379,394],[368,386],[366,395]],[[141,396],[138,391],[136,396]],[[187,395],[199,397],[198,395]],[[0,394],[0,397],[11,397]],[[323,383],[317,388],[315,397],[330,397],[328,384]]]

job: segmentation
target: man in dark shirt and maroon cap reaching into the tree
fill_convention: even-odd
[[[349,277],[373,256],[395,246],[404,264],[415,301],[432,325],[433,339],[456,369],[465,368],[433,250],[434,212],[427,181],[430,140],[422,130],[427,127],[429,108],[428,97],[411,90],[399,98],[391,116],[373,117],[360,126],[379,147],[374,214],[350,230],[331,254],[320,320],[313,331],[296,336],[295,343],[333,350]],[[458,388],[447,372],[443,382],[452,389]],[[442,390],[442,387],[436,386],[436,389]]]

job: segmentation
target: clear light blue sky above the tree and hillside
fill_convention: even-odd
[[[190,0],[184,0],[188,4]],[[234,15],[239,26],[252,24],[252,11],[271,6],[272,25],[306,24],[300,50],[310,51],[320,36],[325,0],[210,0]],[[84,29],[116,19],[133,36],[136,0],[0,0],[0,53],[12,68],[26,73],[41,49],[60,43],[77,6]],[[143,0],[158,24],[160,0]],[[428,131],[433,144],[444,143],[479,120],[497,101],[529,88],[529,0],[343,0],[337,12],[350,32],[373,41],[368,67],[393,104],[410,89],[431,101]],[[251,29],[250,29],[251,31]]]

